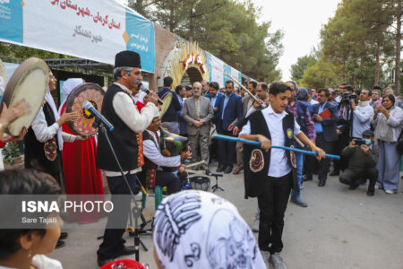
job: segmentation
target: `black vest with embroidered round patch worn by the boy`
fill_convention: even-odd
[[[271,139],[270,131],[266,120],[263,117],[262,110],[256,111],[249,119],[251,123],[251,134],[262,134]],[[288,113],[283,118],[283,130],[286,137],[285,146],[293,147],[294,135],[294,115]],[[268,171],[270,165],[270,152],[265,152],[260,146],[244,143],[244,190],[245,198],[256,197],[262,194],[262,181],[270,180]],[[294,152],[286,151],[287,163],[291,168],[293,175],[292,188],[299,193],[298,181],[296,178],[296,155]]]

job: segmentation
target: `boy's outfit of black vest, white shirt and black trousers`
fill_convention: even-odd
[[[269,106],[255,112],[240,134],[262,134],[272,145],[293,147],[293,135],[300,134],[300,128],[293,114],[275,113]],[[264,152],[244,144],[244,171],[245,198],[258,198],[259,247],[270,254],[279,253],[291,188],[299,193],[295,153],[277,148]]]

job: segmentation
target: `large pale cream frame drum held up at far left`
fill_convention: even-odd
[[[19,135],[22,128],[29,128],[37,117],[47,93],[49,72],[47,64],[35,57],[26,59],[15,70],[5,87],[2,100],[10,108],[16,101],[25,99],[30,105],[30,113],[11,123],[7,133],[13,136]]]

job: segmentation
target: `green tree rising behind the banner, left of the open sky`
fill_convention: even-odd
[[[250,0],[142,0],[133,8],[254,79],[279,79],[283,33],[270,32],[270,22],[259,24],[261,9]]]

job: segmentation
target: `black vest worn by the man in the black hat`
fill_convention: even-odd
[[[107,136],[114,147],[117,159],[122,168],[124,171],[129,171],[138,167],[140,157],[138,154],[139,143],[137,140],[139,136],[117,116],[112,104],[117,92],[124,92],[124,90],[116,84],[112,84],[109,89],[107,89],[102,102],[101,114],[115,127],[112,132],[107,132]],[[104,134],[99,134],[97,168],[107,171],[119,171]]]

